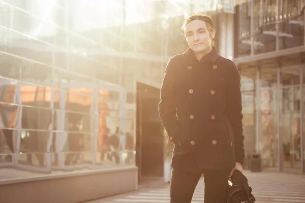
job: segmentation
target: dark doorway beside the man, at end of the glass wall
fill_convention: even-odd
[[[139,181],[163,177],[163,126],[158,112],[160,89],[137,83],[137,155]]]

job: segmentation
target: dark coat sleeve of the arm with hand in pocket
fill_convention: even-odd
[[[173,59],[170,59],[165,69],[161,90],[160,90],[160,103],[159,113],[170,142],[178,144],[180,140],[179,131],[180,123],[176,117],[176,92],[174,88],[175,65]]]

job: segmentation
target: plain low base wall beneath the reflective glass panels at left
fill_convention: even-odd
[[[0,184],[1,202],[85,202],[137,189],[137,168],[118,168],[45,180]],[[18,195],[16,195],[18,194]]]

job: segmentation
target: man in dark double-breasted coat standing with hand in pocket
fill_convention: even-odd
[[[189,49],[168,61],[159,104],[174,143],[170,202],[191,202],[204,174],[204,202],[223,203],[229,176],[242,172],[245,156],[240,75],[218,55],[210,18],[190,16],[182,28]]]

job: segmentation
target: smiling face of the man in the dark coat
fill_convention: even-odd
[[[215,30],[208,31],[206,22],[203,20],[193,20],[186,27],[186,37],[190,48],[194,52],[204,52],[211,48],[212,38]]]

